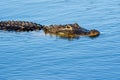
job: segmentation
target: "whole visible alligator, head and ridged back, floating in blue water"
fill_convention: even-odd
[[[28,21],[0,21],[0,30],[15,32],[43,30],[45,34],[72,38],[78,36],[96,37],[100,34],[98,30],[88,30],[80,27],[77,23],[46,26]]]

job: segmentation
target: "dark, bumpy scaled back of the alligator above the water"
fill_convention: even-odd
[[[41,30],[42,25],[27,21],[0,21],[0,30],[6,31],[33,31]]]

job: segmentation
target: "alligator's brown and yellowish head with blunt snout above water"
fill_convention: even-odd
[[[46,34],[53,34],[68,38],[74,38],[78,36],[96,37],[100,34],[98,30],[87,30],[85,28],[80,27],[77,23],[45,26],[43,30]]]

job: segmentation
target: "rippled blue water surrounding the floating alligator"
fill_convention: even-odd
[[[0,80],[120,80],[120,0],[1,0],[0,20],[77,22],[101,32],[68,40],[0,31]]]

